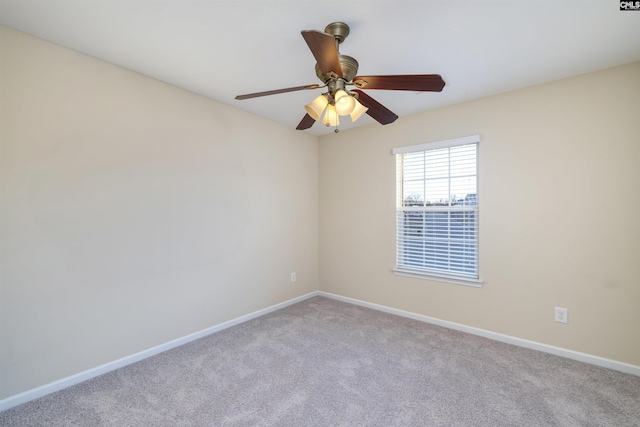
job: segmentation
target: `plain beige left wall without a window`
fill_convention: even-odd
[[[0,31],[0,399],[318,289],[315,136]]]

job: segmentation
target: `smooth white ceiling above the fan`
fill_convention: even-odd
[[[351,27],[340,52],[359,74],[443,76],[441,93],[367,92],[398,120],[640,60],[640,11],[618,0],[0,0],[3,25],[291,128],[320,89],[234,97],[320,83],[300,31],[334,21]]]

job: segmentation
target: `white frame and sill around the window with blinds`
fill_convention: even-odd
[[[475,239],[476,239],[476,251],[475,251],[475,261],[476,261],[476,272],[477,274],[457,274],[451,271],[439,271],[435,269],[429,268],[421,268],[416,267],[412,268],[407,265],[401,265],[400,263],[400,253],[403,251],[402,245],[405,240],[400,236],[400,232],[404,230],[404,224],[401,223],[401,218],[404,217],[404,212],[408,209],[404,207],[403,203],[403,165],[402,165],[402,154],[405,153],[416,153],[420,151],[429,151],[441,148],[450,148],[467,144],[476,144],[476,204],[473,208],[475,212],[474,220],[475,220]],[[471,135],[461,138],[447,139],[443,141],[429,142],[425,144],[411,145],[405,147],[398,147],[392,150],[392,154],[396,156],[396,268],[393,269],[394,274],[399,276],[408,276],[419,279],[427,279],[434,280],[439,282],[447,282],[454,283],[458,285],[466,285],[466,286],[474,286],[481,287],[483,282],[480,280],[480,266],[479,266],[479,222],[478,222],[478,208],[479,208],[479,194],[478,194],[478,154],[479,154],[479,146],[480,146],[480,135]],[[450,176],[448,176],[450,179]],[[415,208],[412,208],[415,209]],[[431,211],[435,208],[427,208],[421,207],[421,211]],[[458,209],[458,208],[456,208]],[[463,209],[469,209],[467,207]],[[450,207],[447,209],[451,211]]]

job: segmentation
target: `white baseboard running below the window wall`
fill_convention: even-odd
[[[496,332],[487,331],[484,329],[474,328],[471,326],[461,325],[459,323],[448,322],[446,320],[436,319],[434,317],[423,316],[422,314],[411,313],[409,311],[398,310],[396,308],[387,307],[384,305],[374,304],[366,301],[357,300],[354,298],[343,297],[341,295],[331,294],[328,292],[319,291],[318,295],[332,298],[338,301],[359,305],[362,307],[372,308],[374,310],[383,311],[385,313],[395,314],[402,317],[407,317],[413,320],[419,320],[421,322],[431,323],[438,326],[443,326],[449,329],[455,329],[457,331],[466,332],[473,335],[478,335],[484,338],[489,338],[495,341],[504,342],[507,344],[517,345],[519,347],[525,347],[532,350],[542,351],[544,353],[554,354],[556,356],[566,357],[567,359],[573,359],[580,362],[589,363],[591,365],[602,366],[604,368],[613,369],[627,374],[640,376],[640,366],[631,365],[628,363],[618,362],[616,360],[605,359],[603,357],[593,356],[586,353],[580,353],[578,351],[567,350],[561,347],[555,347],[548,344],[542,344],[535,341],[529,341],[522,338],[516,338],[509,335],[503,335]]]

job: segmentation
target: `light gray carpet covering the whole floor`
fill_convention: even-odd
[[[640,377],[315,297],[2,426],[640,426]]]

